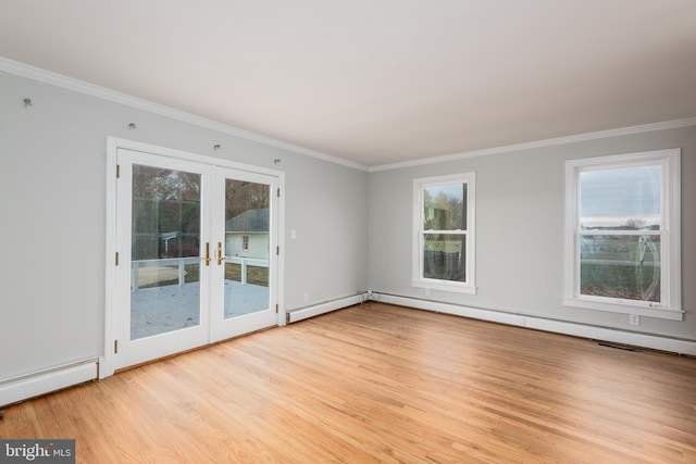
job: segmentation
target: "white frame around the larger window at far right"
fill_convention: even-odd
[[[681,308],[681,149],[656,150],[566,162],[566,285],[563,304],[595,311],[682,321]],[[659,303],[580,294],[580,173],[639,165],[661,166],[661,244]]]

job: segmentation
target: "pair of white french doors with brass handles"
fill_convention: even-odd
[[[278,178],[122,148],[116,163],[112,367],[275,325]]]

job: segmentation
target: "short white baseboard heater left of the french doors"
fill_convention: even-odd
[[[0,406],[84,384],[98,377],[99,358],[92,358],[0,380]]]

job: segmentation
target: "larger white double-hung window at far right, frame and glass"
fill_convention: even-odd
[[[680,153],[567,162],[566,305],[682,319]]]

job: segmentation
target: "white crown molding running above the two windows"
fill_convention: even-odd
[[[422,158],[413,161],[405,161],[402,163],[383,164],[380,166],[369,167],[369,172],[400,170],[405,167],[422,166],[426,164],[445,163],[447,161],[458,161],[468,158],[485,156],[488,154],[509,153],[512,151],[529,150],[534,148],[552,147],[558,145],[574,143],[587,140],[597,140],[608,137],[618,137],[632,134],[649,133],[654,130],[674,129],[679,127],[696,126],[696,117],[684,120],[667,121],[662,123],[644,124],[639,126],[621,127],[618,129],[599,130],[596,133],[580,134],[567,137],[557,137],[545,140],[536,140],[524,143],[508,145],[504,147],[486,148],[483,150],[463,151],[460,153],[444,154],[442,156]]]

